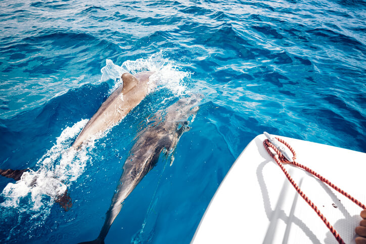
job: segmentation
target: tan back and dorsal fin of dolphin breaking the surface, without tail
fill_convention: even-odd
[[[154,72],[146,71],[135,74],[122,74],[120,85],[91,117],[72,144],[79,149],[84,142],[104,133],[123,119],[131,109],[140,104],[148,93],[149,77]]]

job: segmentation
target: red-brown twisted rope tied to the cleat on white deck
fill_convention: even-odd
[[[340,189],[338,186],[336,186],[335,184],[333,184],[332,182],[330,182],[328,179],[324,178],[322,175],[316,173],[315,171],[309,169],[306,166],[303,166],[299,163],[297,163],[296,160],[296,153],[295,150],[291,147],[291,145],[289,145],[286,141],[284,141],[281,138],[276,137],[276,139],[278,139],[281,143],[285,144],[286,147],[288,147],[288,149],[292,152],[292,154],[294,155],[293,162],[289,162],[285,156],[282,155],[282,153],[272,144],[269,142],[268,139],[265,139],[263,141],[263,145],[265,150],[268,152],[268,154],[275,159],[276,163],[280,166],[280,168],[282,169],[282,171],[285,173],[287,179],[291,182],[291,184],[295,187],[295,189],[297,190],[297,192],[300,194],[300,196],[305,200],[305,202],[307,202],[310,207],[317,213],[317,215],[323,220],[323,222],[327,225],[327,227],[329,228],[329,230],[332,232],[332,234],[334,235],[334,237],[337,239],[337,241],[341,244],[344,244],[343,239],[341,238],[341,236],[338,234],[338,232],[333,228],[333,226],[329,223],[329,221],[326,219],[326,217],[324,217],[324,215],[321,213],[321,211],[319,211],[319,209],[316,207],[316,205],[310,201],[310,199],[305,195],[304,192],[302,192],[302,190],[300,189],[300,187],[294,182],[294,180],[291,178],[290,174],[287,172],[287,170],[285,169],[283,163],[286,164],[292,164],[296,167],[299,167],[301,169],[306,170],[307,172],[309,172],[310,174],[314,175],[315,177],[317,177],[319,180],[323,181],[324,183],[327,183],[329,186],[331,186],[333,189],[337,190],[338,192],[340,192],[341,194],[343,194],[345,197],[347,197],[349,200],[351,200],[353,203],[357,204],[359,207],[361,207],[362,209],[366,209],[366,206],[362,203],[360,203],[358,200],[356,200],[355,198],[353,198],[352,196],[350,196],[350,194],[348,194],[347,192],[345,192],[344,190]],[[273,149],[273,151],[275,151],[277,154],[273,154],[271,152],[271,150],[269,149]]]

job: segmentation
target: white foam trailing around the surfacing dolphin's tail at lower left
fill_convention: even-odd
[[[49,213],[55,199],[83,173],[90,159],[88,151],[93,148],[90,145],[77,152],[70,149],[70,143],[87,121],[65,128],[56,144],[37,162],[35,171],[24,172],[16,183],[8,183],[2,192],[5,201],[1,206],[17,208],[20,212]],[[24,200],[26,203],[22,204]]]

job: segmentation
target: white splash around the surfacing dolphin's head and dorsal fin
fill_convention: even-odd
[[[190,77],[189,72],[179,70],[179,66],[173,61],[164,58],[162,52],[154,54],[147,59],[135,61],[127,60],[121,66],[115,65],[112,60],[106,60],[106,66],[102,68],[101,82],[121,77],[125,72],[136,74],[142,71],[154,71],[149,78],[149,92],[154,89],[167,88],[175,95],[184,94],[187,90],[185,79]],[[113,84],[110,92],[122,84],[122,80]]]

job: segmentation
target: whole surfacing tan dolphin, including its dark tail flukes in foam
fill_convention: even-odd
[[[134,107],[140,104],[144,97],[149,92],[149,89],[154,88],[154,83],[149,83],[149,77],[154,72],[145,71],[135,74],[130,73],[122,74],[121,78],[123,83],[113,91],[113,93],[107,98],[107,100],[101,105],[97,113],[91,117],[85,127],[81,130],[71,149],[79,150],[83,144],[95,139],[109,128],[118,124]],[[29,172],[30,171],[30,172]],[[12,170],[12,169],[0,169],[0,175],[13,178],[16,181],[23,178],[29,178],[34,175],[32,180],[29,181],[28,186],[33,187],[37,184],[37,175],[32,174],[30,169]],[[33,172],[34,173],[34,172]],[[50,182],[54,182],[55,185],[64,185],[58,179],[50,179]],[[58,192],[55,197],[55,202],[59,203],[65,211],[68,211],[71,206],[71,198],[66,189],[63,192]],[[51,192],[51,191],[50,191]]]

